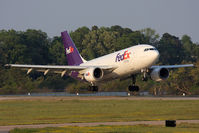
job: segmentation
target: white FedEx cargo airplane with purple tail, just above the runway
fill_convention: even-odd
[[[25,65],[6,64],[6,67],[15,67],[32,71],[43,72],[44,75],[59,73],[61,77],[68,75],[74,79],[85,81],[91,85],[92,91],[98,91],[99,84],[114,79],[132,79],[128,86],[130,92],[139,91],[136,85],[136,75],[143,74],[143,81],[150,77],[154,81],[164,81],[169,77],[169,69],[193,67],[193,64],[161,65],[155,63],[159,60],[158,50],[148,44],[139,44],[102,57],[86,61],[79,53],[67,31],[61,32],[62,41],[68,65]]]

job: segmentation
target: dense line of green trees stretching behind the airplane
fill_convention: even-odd
[[[70,31],[76,47],[87,59],[124,49],[138,44],[150,44],[160,52],[158,64],[194,63],[195,68],[180,68],[171,70],[167,81],[141,81],[138,76],[137,84],[141,91],[159,94],[199,94],[199,44],[194,43],[188,35],[182,38],[169,33],[161,37],[151,28],[133,31],[119,25],[111,27],[93,26],[80,27]],[[26,75],[19,69],[5,69],[5,64],[45,64],[67,65],[64,47],[60,36],[49,38],[41,30],[0,31],[0,94],[23,94],[28,92],[55,91],[86,91],[88,85],[75,81],[68,76],[61,78],[57,74],[31,72]],[[108,82],[100,86],[100,91],[126,91],[130,80]],[[117,87],[115,87],[117,86]]]

